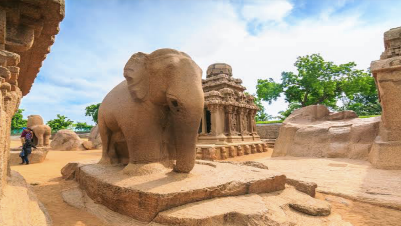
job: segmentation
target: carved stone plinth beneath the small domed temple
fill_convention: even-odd
[[[267,151],[265,141],[242,141],[228,144],[196,144],[196,159],[227,159]]]

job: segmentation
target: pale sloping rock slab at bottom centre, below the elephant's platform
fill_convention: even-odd
[[[288,206],[294,202],[307,203],[298,211]],[[297,206],[298,207],[298,206]],[[301,210],[301,211],[300,211]],[[308,214],[330,214],[330,204],[313,199],[293,188],[269,194],[248,194],[235,197],[214,198],[186,204],[160,212],[154,222],[169,226],[352,226],[338,215],[326,218],[312,218]]]

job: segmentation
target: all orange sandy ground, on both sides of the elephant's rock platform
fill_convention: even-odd
[[[12,147],[20,146],[19,141],[11,141]],[[270,157],[272,150],[227,159],[229,161],[262,161]],[[63,202],[61,192],[76,186],[73,181],[61,179],[61,168],[71,161],[99,159],[101,150],[91,151],[49,151],[43,163],[12,166],[24,176],[28,184],[39,182],[32,189],[46,206],[54,226],[105,226],[95,216],[73,208]],[[316,198],[328,200],[332,212],[336,212],[354,226],[400,226],[401,211],[354,202],[345,198],[318,193]]]

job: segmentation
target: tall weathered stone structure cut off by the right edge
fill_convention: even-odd
[[[401,170],[401,27],[384,33],[385,51],[371,63],[383,109],[369,161],[379,169]]]

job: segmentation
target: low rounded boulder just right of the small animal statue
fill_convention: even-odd
[[[74,131],[69,129],[61,129],[57,131],[50,143],[50,146],[52,150],[60,151],[86,150],[86,148],[82,145],[81,138],[79,138]]]

